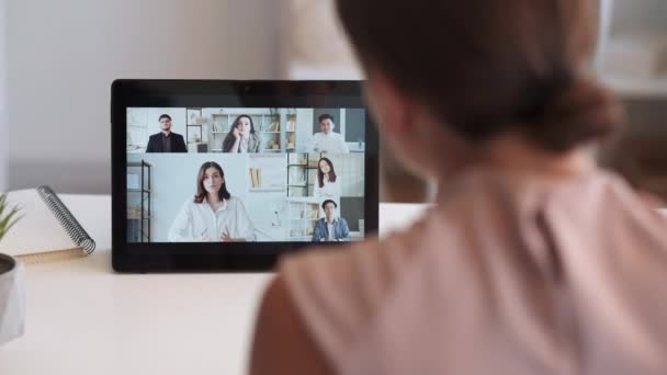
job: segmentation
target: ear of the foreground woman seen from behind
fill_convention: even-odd
[[[364,96],[380,128],[393,135],[411,130],[412,102],[381,71],[368,72],[368,77]]]

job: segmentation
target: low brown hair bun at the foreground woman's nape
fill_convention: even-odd
[[[529,133],[542,147],[566,151],[612,134],[623,112],[613,93],[592,80],[575,79],[547,99]]]

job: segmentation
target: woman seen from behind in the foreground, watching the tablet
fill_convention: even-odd
[[[337,3],[438,205],[283,259],[251,374],[667,374],[667,223],[593,158],[621,122],[590,72],[598,1]]]

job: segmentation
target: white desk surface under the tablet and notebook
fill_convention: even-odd
[[[270,274],[115,274],[111,200],[64,195],[98,250],[26,268],[24,337],[0,346],[0,374],[244,374]],[[421,205],[382,204],[381,232]]]

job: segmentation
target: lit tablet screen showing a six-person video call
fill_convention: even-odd
[[[126,109],[126,240],[364,238],[359,107]]]

